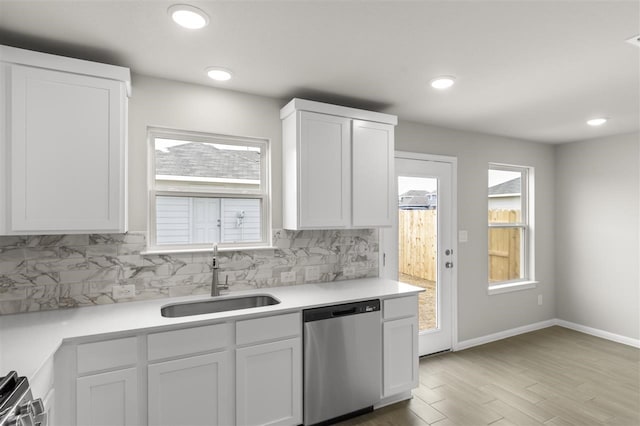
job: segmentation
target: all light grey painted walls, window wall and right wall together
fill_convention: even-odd
[[[147,126],[269,138],[273,227],[280,228],[279,111],[285,103],[134,74],[129,104],[130,229],[147,229]],[[561,319],[638,338],[637,135],[556,148],[400,121],[396,148],[458,158],[458,225],[469,233],[469,242],[458,246],[459,340],[555,318],[556,304]],[[536,289],[487,295],[489,162],[535,167],[536,279],[540,282]],[[609,204],[594,216],[595,210],[585,208],[593,200]],[[599,229],[583,232],[594,220]],[[606,245],[598,236],[604,228],[609,238]],[[554,239],[556,230],[558,238]],[[555,274],[560,283],[557,300]],[[542,306],[537,304],[539,294],[543,295]]]

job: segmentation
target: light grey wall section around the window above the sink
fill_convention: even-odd
[[[267,138],[271,147],[273,227],[282,227],[282,126],[285,102],[139,74],[129,100],[129,229],[147,230],[147,128]]]

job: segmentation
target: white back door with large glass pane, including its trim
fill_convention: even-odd
[[[419,353],[453,343],[455,163],[451,157],[396,152],[395,218],[382,230],[382,275],[423,287]]]

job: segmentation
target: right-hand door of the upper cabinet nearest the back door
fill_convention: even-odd
[[[352,145],[353,226],[391,226],[393,126],[354,120]]]

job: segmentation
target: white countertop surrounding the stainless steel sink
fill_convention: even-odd
[[[268,313],[298,311],[314,306],[348,303],[362,299],[387,299],[424,291],[383,278],[363,278],[321,284],[271,287],[237,291],[221,297],[270,294],[280,300],[277,305],[241,309],[180,318],[164,318],[164,305],[206,300],[207,295],[117,303],[57,311],[0,316],[0,376],[16,370],[33,379],[60,345],[69,340],[90,336],[118,337],[164,327],[199,325],[220,320],[250,318]]]

